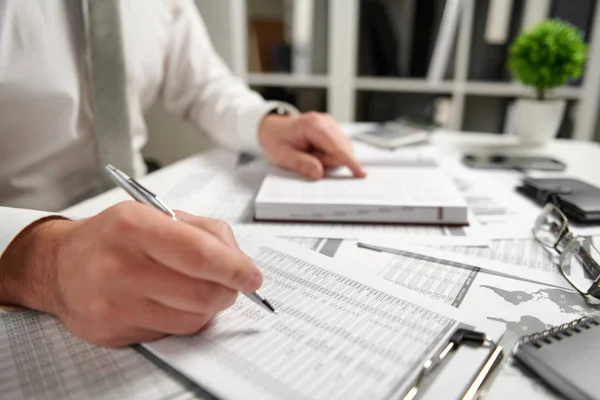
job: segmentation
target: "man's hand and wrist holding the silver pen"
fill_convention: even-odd
[[[105,347],[191,334],[262,275],[219,220],[127,202],[26,229],[0,259],[0,303],[58,316]]]

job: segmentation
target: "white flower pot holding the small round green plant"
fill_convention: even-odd
[[[544,145],[554,139],[566,105],[564,100],[517,100],[514,126],[521,143]]]

